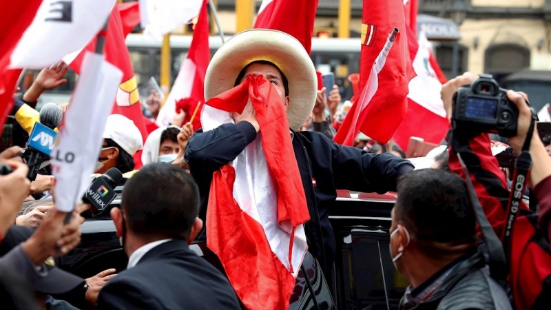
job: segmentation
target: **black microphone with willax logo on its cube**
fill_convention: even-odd
[[[86,194],[83,197],[83,203],[92,205],[89,210],[92,216],[101,214],[116,197],[115,187],[123,180],[123,174],[116,168],[111,168],[98,176],[92,182],[92,185],[86,189]]]

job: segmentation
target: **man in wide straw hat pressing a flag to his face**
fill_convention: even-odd
[[[207,103],[202,108],[203,127],[191,137],[185,152],[191,174],[199,185],[199,216],[207,220],[207,234],[211,238],[207,238],[209,247],[220,238],[220,231],[231,226],[224,224],[223,219],[219,220],[215,214],[207,216],[207,206],[209,209],[220,208],[227,203],[228,199],[219,195],[226,190],[226,184],[220,185],[223,180],[217,176],[229,171],[227,179],[235,179],[233,184],[229,184],[229,192],[233,192],[233,198],[244,214],[252,214],[251,217],[262,224],[273,252],[278,255],[275,248],[280,243],[283,243],[283,250],[287,247],[289,253],[291,248],[295,251],[297,242],[301,241],[300,234],[305,234],[308,251],[319,260],[327,277],[336,248],[328,207],[337,198],[336,189],[377,193],[395,191],[397,178],[413,169],[411,163],[392,154],[368,154],[362,149],[338,145],[318,132],[297,132],[313,110],[317,86],[315,68],[309,55],[299,41],[284,32],[247,30],[236,34],[218,49],[205,76]],[[244,87],[248,89],[244,90],[249,94],[248,100],[239,93]],[[242,102],[235,103],[237,98],[242,98]],[[226,108],[229,105],[238,108]],[[279,111],[283,115],[286,112],[287,117],[270,122],[270,116]],[[282,125],[278,127],[277,123]],[[273,163],[273,158],[276,158],[276,163]],[[266,162],[267,168],[264,167]],[[231,169],[227,170],[227,166]],[[282,166],[285,169],[280,169]],[[286,178],[281,178],[280,174]],[[292,187],[295,196],[285,196],[289,194],[286,187],[295,182],[299,184],[299,187]],[[271,189],[277,194],[264,193]],[[296,201],[289,202],[287,198]],[[270,228],[267,228],[272,226],[269,225],[271,222],[262,218],[270,211],[263,212],[259,207],[264,200],[277,200],[273,205],[279,210],[280,221],[277,223],[291,234],[291,245],[289,242],[274,242],[275,239],[271,238]],[[290,219],[293,224],[286,228],[281,220],[282,203],[305,205],[309,220],[306,218],[304,225],[296,225],[300,220],[293,222],[295,210],[287,209],[291,215],[283,219]],[[250,211],[251,207],[258,207],[258,211]],[[209,226],[211,220],[216,220],[218,225]],[[236,226],[247,229],[249,224]],[[299,238],[293,242],[297,236]],[[199,238],[205,238],[205,234]],[[230,247],[231,242],[226,245]],[[224,265],[222,258],[227,254],[215,253]],[[284,258],[282,262],[291,273],[296,271],[293,269],[294,258],[289,257],[289,262]],[[227,265],[225,268],[228,271]],[[236,287],[231,275],[229,278],[242,298],[240,288]]]

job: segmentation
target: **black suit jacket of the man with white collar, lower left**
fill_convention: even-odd
[[[148,251],[101,289],[98,309],[240,309],[227,278],[183,240]]]

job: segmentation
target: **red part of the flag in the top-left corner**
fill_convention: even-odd
[[[13,95],[21,69],[8,69],[13,49],[37,14],[42,0],[4,1],[0,11],[0,132],[13,107]]]

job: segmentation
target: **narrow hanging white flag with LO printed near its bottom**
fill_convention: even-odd
[[[90,52],[85,55],[59,140],[52,150],[56,208],[60,211],[72,211],[90,186],[107,116],[122,79],[123,72],[107,63],[103,55]]]

